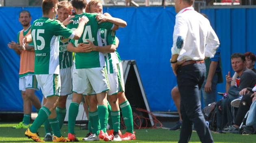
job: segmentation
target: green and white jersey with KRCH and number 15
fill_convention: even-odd
[[[35,74],[59,74],[59,36],[74,38],[60,21],[40,17],[31,27],[35,46]]]

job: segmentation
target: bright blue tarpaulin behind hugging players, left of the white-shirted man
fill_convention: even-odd
[[[42,15],[40,7],[0,7],[0,111],[22,111],[18,86],[20,58],[7,47],[8,42],[16,41],[17,32],[22,29],[18,21],[22,9],[30,11],[31,22]],[[127,22],[126,28],[117,31],[118,52],[121,59],[137,61],[150,108],[153,111],[175,110],[170,90],[176,78],[169,64],[176,15],[174,7],[109,7],[104,11]]]

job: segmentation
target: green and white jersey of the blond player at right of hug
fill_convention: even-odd
[[[100,28],[100,37],[102,39],[102,46],[111,44],[115,45],[115,31]],[[105,53],[106,69],[108,71],[108,74],[118,72],[117,63],[119,63],[119,61],[117,54],[117,52]]]

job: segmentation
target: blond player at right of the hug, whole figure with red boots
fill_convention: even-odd
[[[88,4],[88,11],[91,13],[99,13],[98,14],[98,20],[100,22],[109,21],[112,23],[115,23],[119,27],[126,27],[126,22],[117,19],[114,17],[111,17],[108,13],[105,13],[102,15],[102,3],[99,0],[91,0]],[[132,118],[132,109],[130,107],[130,104],[128,100],[126,99],[126,96],[124,94],[124,78],[123,78],[123,71],[122,71],[122,65],[121,65],[121,59],[119,57],[119,54],[115,50],[118,46],[118,43],[116,46],[113,46],[115,44],[115,39],[118,40],[115,37],[115,32],[111,30],[106,29],[100,29],[100,36],[102,38],[102,46],[95,46],[92,42],[89,42],[89,44],[85,44],[85,47],[91,47],[92,50],[96,50],[102,53],[105,53],[105,59],[106,59],[106,69],[107,69],[107,76],[108,81],[110,82],[110,88],[111,90],[108,91],[108,100],[110,102],[112,111],[111,111],[111,119],[113,122],[113,129],[111,130],[109,134],[112,135],[113,140],[120,141],[119,137],[119,118],[120,118],[120,111],[119,106],[122,109],[122,115],[124,117],[124,122],[126,124],[126,133],[122,135],[122,140],[134,140],[136,139],[135,134],[133,132],[133,118]],[[104,46],[108,45],[108,46]],[[93,96],[89,96],[90,98]],[[118,98],[118,100],[117,100]],[[91,100],[91,99],[90,99]],[[119,103],[119,106],[118,106]]]

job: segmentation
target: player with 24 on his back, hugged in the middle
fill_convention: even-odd
[[[76,29],[78,24],[78,18],[85,15],[88,17],[89,22],[85,26],[82,38],[79,40],[71,40],[68,44],[69,46],[78,47],[79,43],[88,43],[87,40],[98,45],[98,29],[117,29],[118,27],[113,23],[104,22],[98,24],[96,19],[97,14],[85,13],[87,2],[86,0],[73,0],[72,5],[75,10],[75,18],[73,23],[67,25],[70,29]],[[76,48],[75,48],[76,49]],[[100,119],[100,124],[104,130],[108,118],[108,108],[106,100],[106,91],[109,90],[108,83],[106,79],[106,74],[104,71],[105,61],[104,54],[98,51],[92,51],[90,53],[76,53],[75,54],[75,66],[73,70],[73,97],[72,103],[69,106],[69,122],[68,122],[68,139],[71,141],[77,141],[74,133],[74,125],[76,122],[76,116],[78,114],[78,106],[82,99],[82,94],[92,93],[94,90],[96,93],[97,101],[90,101],[89,109],[89,120],[91,121],[95,135],[93,136],[93,141],[98,141],[98,118]],[[98,103],[98,110],[97,110]],[[94,107],[94,108],[92,108]],[[96,120],[95,120],[96,119]],[[94,121],[94,122],[93,122]],[[104,136],[108,139],[106,130],[104,130]]]

